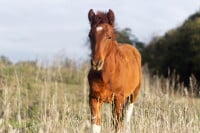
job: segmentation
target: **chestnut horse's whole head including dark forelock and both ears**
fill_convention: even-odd
[[[112,45],[114,39],[114,13],[111,9],[107,13],[94,13],[90,9],[88,13],[91,30],[89,38],[92,49],[91,65],[94,70],[100,71],[103,68],[105,56]]]

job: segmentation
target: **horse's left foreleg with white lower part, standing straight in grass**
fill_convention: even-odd
[[[100,133],[101,131],[101,106],[102,102],[99,99],[90,98],[91,110],[91,133]]]

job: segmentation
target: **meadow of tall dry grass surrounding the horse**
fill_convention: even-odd
[[[44,67],[35,62],[0,64],[0,132],[87,133],[90,129],[87,63]],[[200,98],[195,78],[190,86],[179,76],[143,80],[131,119],[132,133],[198,133]],[[190,91],[188,91],[190,90]],[[196,94],[196,93],[195,93]],[[102,109],[102,133],[112,131],[111,105]]]

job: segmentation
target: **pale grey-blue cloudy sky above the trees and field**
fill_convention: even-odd
[[[11,61],[89,58],[88,11],[115,13],[118,28],[148,43],[200,10],[200,0],[0,0],[0,55]]]

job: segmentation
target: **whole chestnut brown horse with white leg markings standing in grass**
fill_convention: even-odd
[[[101,107],[104,102],[112,104],[115,131],[122,131],[123,114],[126,113],[128,125],[140,89],[141,56],[135,47],[115,40],[112,10],[101,15],[95,15],[90,10],[88,18],[92,52],[88,74],[91,132],[99,133],[101,130]]]

